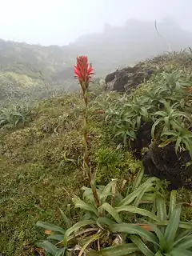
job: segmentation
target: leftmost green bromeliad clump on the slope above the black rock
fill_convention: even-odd
[[[154,106],[150,104],[149,98],[127,98],[119,99],[118,105],[106,110],[106,122],[113,126],[114,137],[122,138],[125,147],[137,139],[137,131],[142,122],[150,122],[150,111]]]

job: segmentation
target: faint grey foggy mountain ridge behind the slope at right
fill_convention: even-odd
[[[192,33],[177,23],[166,20],[158,24],[130,19],[125,26],[106,26],[102,34],[84,35],[74,42],[74,48],[87,54],[98,73],[118,66],[130,65],[164,51],[180,50],[192,45]]]

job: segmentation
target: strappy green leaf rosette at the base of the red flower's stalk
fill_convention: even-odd
[[[142,235],[150,226],[141,220],[141,216],[150,218],[153,222],[161,221],[153,212],[139,207],[149,204],[152,209],[154,198],[161,195],[158,178],[149,178],[142,183],[143,173],[143,169],[140,170],[132,186],[124,187],[126,193],[122,193],[121,186],[118,188],[117,179],[106,186],[98,186],[99,207],[91,188],[83,186],[82,199],[74,197],[74,207],[81,209],[82,212],[80,221],[72,225],[70,219],[61,211],[66,228],[38,222],[37,226],[44,228],[46,234],[49,234],[45,241],[38,243],[38,246],[54,256],[116,255],[118,252],[119,255],[126,255],[138,252],[138,246],[131,242],[127,243],[124,232],[118,230],[115,225],[124,226],[126,218],[126,222],[135,222],[127,224],[130,234],[138,232]],[[140,216],[139,220],[136,214]],[[103,249],[105,247],[110,247],[106,253]]]

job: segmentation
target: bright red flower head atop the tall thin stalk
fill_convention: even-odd
[[[78,56],[77,58],[77,65],[74,66],[74,74],[75,78],[78,78],[78,81],[80,82],[81,86],[84,82],[86,86],[88,86],[91,76],[94,69],[92,66],[88,64],[88,59],[86,56]]]

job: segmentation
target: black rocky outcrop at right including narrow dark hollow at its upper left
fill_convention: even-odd
[[[192,165],[188,151],[175,153],[175,143],[159,147],[158,142],[151,143],[151,123],[142,123],[138,130],[138,139],[132,145],[136,158],[142,160],[145,174],[166,179],[170,182],[168,188],[175,190],[180,187],[192,189]],[[144,156],[142,149],[148,148]]]

